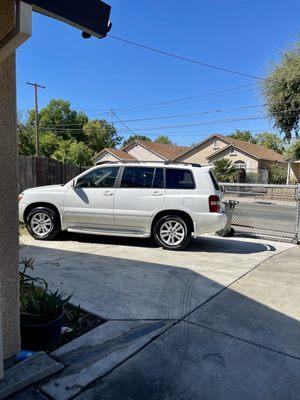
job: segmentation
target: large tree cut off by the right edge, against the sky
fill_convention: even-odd
[[[298,136],[300,121],[300,42],[282,54],[262,82],[269,116],[274,126],[290,140]]]

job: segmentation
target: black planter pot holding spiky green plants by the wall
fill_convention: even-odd
[[[27,323],[21,317],[21,347],[23,350],[48,350],[60,342],[64,314],[44,324]]]

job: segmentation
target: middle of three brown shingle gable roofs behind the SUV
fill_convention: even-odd
[[[148,140],[134,140],[129,143],[126,147],[123,148],[123,151],[130,149],[132,145],[139,144],[152,153],[161,156],[165,160],[174,160],[179,157],[182,153],[185,153],[190,149],[190,147],[186,146],[175,146],[174,144],[164,144],[157,142],[150,142]]]

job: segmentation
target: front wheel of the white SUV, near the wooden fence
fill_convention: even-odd
[[[52,240],[60,233],[59,217],[51,208],[35,207],[26,218],[26,228],[37,240]]]

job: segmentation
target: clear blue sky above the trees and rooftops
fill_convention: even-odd
[[[108,2],[112,35],[260,77],[299,38],[299,0]],[[83,40],[76,29],[38,14],[32,38],[18,50],[17,77],[23,113],[33,106],[29,80],[47,86],[39,93],[40,107],[63,98],[91,118],[116,121],[108,114],[113,109],[133,132],[166,134],[181,145],[212,133],[272,129],[266,118],[250,119],[265,114],[254,79],[112,38]],[[234,110],[247,106],[253,107]],[[124,137],[131,134],[114,124]]]

